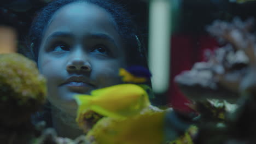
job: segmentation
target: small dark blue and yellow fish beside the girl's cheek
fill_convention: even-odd
[[[124,82],[143,83],[147,82],[152,75],[148,69],[139,65],[133,65],[127,69],[121,68],[119,76],[123,76]]]

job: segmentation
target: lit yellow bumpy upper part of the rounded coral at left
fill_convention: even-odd
[[[19,53],[1,54],[0,62],[2,98],[19,99],[20,104],[25,104],[30,99],[44,102],[45,79],[39,75],[36,63]]]

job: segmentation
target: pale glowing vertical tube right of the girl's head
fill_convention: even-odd
[[[155,93],[168,89],[170,75],[171,1],[149,1],[148,61]]]

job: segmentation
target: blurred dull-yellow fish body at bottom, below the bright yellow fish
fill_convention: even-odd
[[[86,135],[98,144],[160,144],[165,141],[166,111],[136,115],[117,121],[101,119]]]

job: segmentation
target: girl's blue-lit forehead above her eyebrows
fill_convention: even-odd
[[[45,37],[55,31],[74,34],[104,33],[120,37],[112,16],[103,8],[90,3],[72,3],[57,10],[45,29]]]

